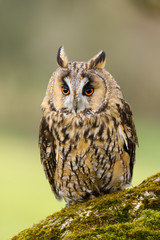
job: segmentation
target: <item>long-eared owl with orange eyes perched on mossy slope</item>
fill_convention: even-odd
[[[60,47],[43,102],[41,162],[51,189],[67,204],[125,189],[138,144],[132,112],[105,70],[100,51],[88,62],[69,62]]]

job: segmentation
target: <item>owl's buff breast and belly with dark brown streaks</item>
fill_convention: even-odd
[[[58,198],[84,201],[129,183],[129,155],[115,120],[103,113],[85,117],[55,113],[48,119],[55,137]]]

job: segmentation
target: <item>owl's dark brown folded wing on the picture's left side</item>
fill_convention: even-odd
[[[44,117],[42,117],[40,122],[39,147],[41,163],[44,167],[46,178],[48,179],[55,196],[59,199],[54,182],[54,174],[56,169],[54,136],[49,130],[48,124]]]

